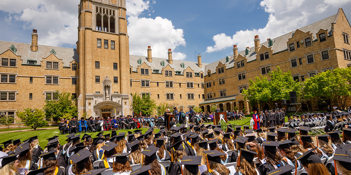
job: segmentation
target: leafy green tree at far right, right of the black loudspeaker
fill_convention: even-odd
[[[336,68],[306,79],[299,96],[303,100],[325,97],[345,109],[351,96],[351,68]]]

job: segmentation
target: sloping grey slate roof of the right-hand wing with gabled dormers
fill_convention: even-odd
[[[340,10],[339,10],[340,11]],[[338,12],[339,13],[339,12]],[[312,23],[308,26],[305,26],[305,27],[302,27],[302,28],[299,28],[299,30],[303,31],[303,32],[308,32],[310,31],[310,33],[313,34],[313,40],[316,39],[316,33],[318,33],[318,31],[322,28],[324,30],[328,30],[329,32],[331,31],[331,23],[334,23],[335,22],[335,19],[337,17],[337,14],[333,15],[333,16],[330,16],[328,18],[325,18],[323,20],[320,20],[318,22],[315,22],[315,23]],[[287,49],[287,44],[286,42],[288,41],[289,38],[292,37],[292,34],[295,33],[296,30],[294,31],[291,31],[287,34],[284,34],[282,36],[278,36],[276,38],[271,38],[273,40],[273,45],[271,46],[272,50],[273,50],[273,54],[276,53],[276,52],[279,52],[279,51],[283,51],[285,49]],[[312,40],[312,41],[313,41]],[[268,47],[268,41],[266,42],[263,42],[263,43],[260,43],[261,47],[263,45],[265,45],[266,47]],[[246,55],[246,58],[247,58],[247,62],[250,62],[250,61],[254,61],[256,59],[256,52],[255,52],[255,47],[251,47],[249,48],[249,50],[251,49],[251,51],[249,52],[249,55]],[[245,56],[245,50],[243,51],[240,51],[239,52],[240,55],[242,56]],[[231,55],[231,56],[228,56],[230,59],[229,59],[229,62],[226,63],[226,66],[227,66],[227,69],[228,68],[232,68],[233,66],[236,66],[236,63],[234,62],[234,55]],[[218,65],[219,62],[221,63],[225,63],[225,58],[223,59],[220,59],[216,62],[213,62],[213,63],[210,63],[210,64],[207,64],[205,66],[205,75],[207,75],[207,72],[208,70],[211,70],[212,73],[215,73],[216,72],[216,67]],[[239,60],[238,60],[239,61]]]

